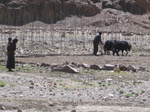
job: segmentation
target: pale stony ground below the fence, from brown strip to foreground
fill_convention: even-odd
[[[149,56],[45,56],[16,57],[20,68],[0,72],[0,112],[149,112]],[[80,73],[52,72],[31,63],[66,62],[123,64],[144,71],[105,71],[82,69]],[[27,68],[25,66],[31,65]],[[1,61],[1,66],[5,62]],[[22,72],[23,69],[36,72]],[[80,69],[80,68],[78,68]],[[5,84],[2,86],[2,82]]]

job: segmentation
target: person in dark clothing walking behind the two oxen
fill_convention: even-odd
[[[98,52],[98,45],[101,43],[102,44],[102,41],[101,41],[101,35],[102,35],[102,32],[99,32],[99,35],[95,36],[94,40],[93,40],[93,55],[97,55],[97,52]]]

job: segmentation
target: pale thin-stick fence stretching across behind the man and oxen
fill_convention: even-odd
[[[111,29],[111,28],[110,28]],[[92,40],[98,28],[90,30],[88,27],[78,29],[58,29],[54,26],[0,26],[0,57],[6,57],[8,37],[18,38],[17,56],[31,55],[88,55],[92,54]],[[104,32],[104,31],[103,31]],[[130,35],[132,34],[132,35]],[[102,41],[127,40],[132,44],[131,55],[150,55],[150,34],[138,32],[105,32]]]

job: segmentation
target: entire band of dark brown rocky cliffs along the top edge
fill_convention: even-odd
[[[150,12],[150,0],[0,0],[0,24],[56,23],[72,15],[94,16],[107,8],[143,15]]]

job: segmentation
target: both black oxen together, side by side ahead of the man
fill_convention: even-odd
[[[127,41],[119,41],[119,40],[107,40],[104,44],[104,53],[108,54],[109,51],[112,51],[113,55],[119,56],[119,51],[122,51],[122,55],[124,55],[124,51],[126,51],[126,55],[131,50],[131,44]]]

